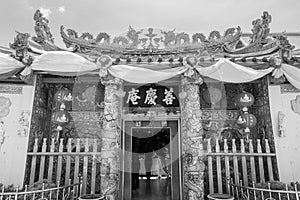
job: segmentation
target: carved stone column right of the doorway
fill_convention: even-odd
[[[201,78],[200,78],[201,79]],[[181,79],[181,139],[183,150],[184,199],[204,199],[203,129],[199,83],[188,77]]]

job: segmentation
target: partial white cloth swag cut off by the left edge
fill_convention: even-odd
[[[24,67],[24,64],[20,61],[17,61],[7,54],[0,53],[0,80],[15,75]]]

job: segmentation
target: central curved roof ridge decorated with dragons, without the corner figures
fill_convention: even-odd
[[[154,28],[134,29],[129,26],[125,34],[111,38],[107,33],[99,33],[93,37],[90,33],[81,36],[71,29],[64,31],[61,26],[61,36],[67,47],[77,48],[79,52],[97,51],[101,54],[120,54],[124,56],[149,56],[187,54],[200,51],[208,53],[221,52],[224,44],[234,45],[241,37],[241,29],[229,28],[223,35],[212,31],[206,38],[202,33],[191,37],[184,32]]]

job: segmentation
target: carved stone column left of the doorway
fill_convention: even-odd
[[[110,78],[105,85],[104,122],[101,148],[101,193],[118,199],[120,180],[120,140],[122,81]]]

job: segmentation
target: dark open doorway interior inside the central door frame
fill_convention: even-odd
[[[170,128],[132,129],[132,199],[171,199]]]

